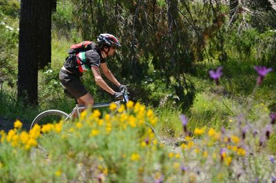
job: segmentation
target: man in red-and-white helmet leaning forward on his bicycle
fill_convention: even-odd
[[[96,84],[103,90],[113,95],[115,98],[121,98],[122,94],[112,90],[106,81],[101,77],[100,69],[110,81],[112,81],[119,90],[126,88],[125,85],[120,84],[115,76],[111,73],[106,64],[106,58],[114,55],[117,48],[121,47],[118,39],[110,34],[101,34],[97,37],[97,44],[92,44],[91,50],[78,52],[75,55],[67,57],[64,66],[59,72],[59,79],[61,84],[72,94],[78,104],[85,104],[92,106],[94,99],[90,93],[86,90],[80,81],[80,77],[86,70],[92,70]]]

